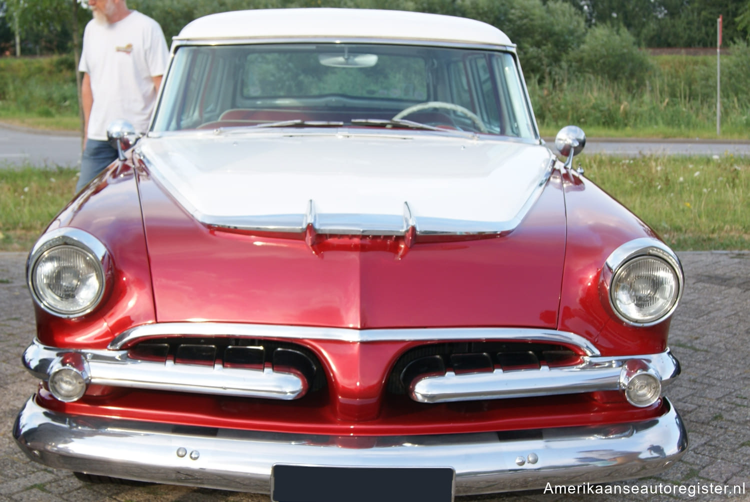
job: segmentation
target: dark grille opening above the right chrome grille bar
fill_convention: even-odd
[[[580,364],[580,356],[568,347],[557,344],[472,341],[429,344],[415,347],[402,355],[388,379],[388,392],[406,394],[404,382],[418,376],[538,369],[542,364],[556,368]]]

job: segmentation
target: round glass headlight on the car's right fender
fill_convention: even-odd
[[[631,323],[652,323],[672,311],[679,298],[679,276],[655,256],[635,257],[614,274],[610,299],[617,313]]]

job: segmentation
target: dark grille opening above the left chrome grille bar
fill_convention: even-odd
[[[217,364],[257,371],[273,365],[277,370],[304,375],[310,383],[309,392],[326,387],[326,375],[317,356],[306,347],[283,341],[232,337],[154,338],[130,347],[127,356],[139,361],[170,360],[175,365]]]

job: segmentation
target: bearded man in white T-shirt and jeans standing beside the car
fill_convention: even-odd
[[[80,190],[117,158],[107,125],[126,119],[145,132],[169,60],[164,35],[150,17],[130,11],[125,0],[89,0],[94,19],[83,32],[83,119],[86,146]]]

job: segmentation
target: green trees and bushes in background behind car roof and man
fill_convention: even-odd
[[[19,19],[23,54],[68,53],[80,37],[86,0],[0,0],[0,50]],[[206,14],[257,8],[345,7],[424,11],[498,26],[517,44],[527,79],[559,80],[571,71],[637,84],[647,71],[638,47],[712,47],[724,16],[724,40],[748,40],[750,0],[127,0],[153,17],[167,42]],[[77,16],[76,23],[72,17]],[[643,75],[637,77],[639,72]]]

